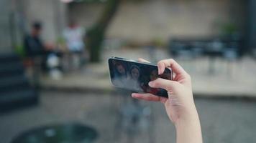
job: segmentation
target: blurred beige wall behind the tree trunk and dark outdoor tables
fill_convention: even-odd
[[[69,17],[83,26],[96,21],[102,4],[73,4]],[[244,0],[122,1],[107,31],[109,38],[147,42],[177,36],[214,36],[221,24],[233,22],[244,32]]]

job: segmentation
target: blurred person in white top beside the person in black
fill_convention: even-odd
[[[69,66],[72,64],[71,69],[81,68],[83,54],[85,54],[85,44],[83,42],[85,35],[86,30],[81,26],[78,26],[73,20],[70,20],[68,27],[63,32],[66,46],[69,51]]]

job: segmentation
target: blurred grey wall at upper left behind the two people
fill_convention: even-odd
[[[22,46],[34,21],[42,22],[42,39],[48,43],[57,41],[66,26],[66,4],[60,0],[0,0],[0,8],[0,53]]]

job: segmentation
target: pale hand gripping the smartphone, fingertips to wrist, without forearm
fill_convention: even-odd
[[[139,61],[148,62],[145,59],[139,59]],[[132,94],[132,97],[147,101],[162,102],[165,105],[168,117],[174,124],[178,121],[178,119],[190,119],[191,114],[196,113],[191,88],[191,77],[173,59],[159,61],[157,67],[158,74],[163,74],[165,67],[171,68],[175,74],[173,81],[158,78],[149,83],[150,87],[167,90],[168,98],[159,97],[149,93],[134,93]]]

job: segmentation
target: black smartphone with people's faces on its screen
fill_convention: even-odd
[[[157,65],[155,64],[119,57],[109,58],[109,72],[111,83],[115,87],[138,93],[151,93],[160,97],[168,97],[167,91],[165,89],[151,88],[148,82],[158,77],[173,80],[173,71],[171,69],[165,68],[164,73],[158,75]]]

